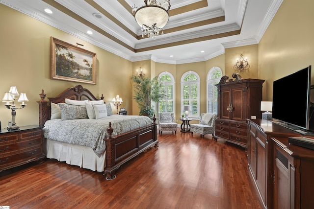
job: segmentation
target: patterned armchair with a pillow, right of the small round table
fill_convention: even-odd
[[[198,133],[201,135],[211,134],[214,137],[215,127],[216,127],[216,114],[212,113],[202,113],[199,124],[191,124],[191,135],[193,132]]]

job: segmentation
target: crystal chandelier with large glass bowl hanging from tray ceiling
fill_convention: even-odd
[[[142,29],[142,38],[144,35],[152,37],[163,35],[163,27],[169,21],[170,0],[144,0],[145,5],[141,7],[133,6],[132,15],[135,21]]]

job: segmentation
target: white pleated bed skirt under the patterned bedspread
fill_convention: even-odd
[[[105,152],[98,157],[92,148],[55,140],[43,140],[43,152],[47,158],[93,171],[105,171]]]

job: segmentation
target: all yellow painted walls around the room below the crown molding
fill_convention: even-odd
[[[39,93],[44,89],[47,97],[66,88],[81,84],[96,96],[103,93],[105,101],[119,94],[128,114],[138,115],[138,107],[132,99],[131,74],[142,67],[149,77],[169,71],[175,77],[175,112],[181,116],[180,85],[182,75],[193,70],[201,78],[201,112],[206,111],[206,76],[208,71],[219,67],[230,78],[233,66],[242,53],[247,57],[250,69],[238,72],[243,78],[265,79],[263,100],[272,100],[272,82],[294,71],[313,65],[314,57],[314,8],[313,0],[285,0],[269,24],[259,44],[226,48],[225,54],[204,62],[189,64],[164,64],[152,60],[130,62],[104,49],[82,41],[60,31],[46,23],[37,21],[23,13],[0,4],[0,96],[10,86],[17,86],[19,92],[25,92],[29,99],[23,110],[17,110],[17,125],[38,124]],[[97,54],[97,85],[82,84],[50,79],[50,36],[76,45]],[[312,73],[313,74],[313,73]],[[297,81],[295,83],[297,85]],[[293,100],[287,98],[287,102]],[[314,101],[314,99],[312,99]],[[18,103],[19,104],[19,103]],[[120,107],[119,107],[120,108]],[[116,109],[112,106],[113,112]],[[11,111],[3,103],[0,106],[2,124],[11,120]],[[2,128],[5,127],[4,125]]]

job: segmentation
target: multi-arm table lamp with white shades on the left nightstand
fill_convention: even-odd
[[[16,107],[15,106],[15,96],[20,95],[18,93],[18,90],[16,89],[16,86],[11,86],[10,87],[10,91],[9,92],[5,92],[2,102],[6,102],[5,107],[7,109],[11,109],[12,110],[12,123],[8,125],[7,130],[11,131],[11,130],[19,130],[20,126],[17,126],[15,124],[15,116],[16,116],[16,110],[17,109],[22,109],[26,106],[26,104],[24,102],[28,102],[28,99],[26,97],[26,93],[21,93],[20,98],[18,99],[18,102],[22,102],[21,106],[22,107]],[[12,102],[12,104],[11,104]]]

